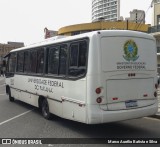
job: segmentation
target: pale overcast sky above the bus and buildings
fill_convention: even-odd
[[[129,17],[133,9],[144,10],[151,24],[152,0],[121,0],[121,16]],[[0,43],[43,40],[44,28],[91,22],[92,0],[0,0]],[[147,11],[148,10],[148,11]]]

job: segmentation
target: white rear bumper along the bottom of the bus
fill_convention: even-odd
[[[147,107],[128,110],[104,111],[98,105],[88,107],[88,124],[100,124],[108,122],[123,121],[135,118],[141,118],[156,114],[158,103]]]

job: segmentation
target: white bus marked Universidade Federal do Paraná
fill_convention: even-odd
[[[12,50],[7,56],[9,100],[86,124],[154,115],[155,39],[127,30],[93,31]]]

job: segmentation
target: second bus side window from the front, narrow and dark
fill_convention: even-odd
[[[24,52],[17,54],[17,72],[23,72]]]

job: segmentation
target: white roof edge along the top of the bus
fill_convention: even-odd
[[[83,34],[78,34],[74,36],[55,36],[51,37],[49,39],[45,39],[44,41],[34,43],[25,47],[17,48],[14,50],[11,50],[10,52],[16,52],[20,50],[25,50],[25,49],[30,49],[30,48],[37,48],[37,47],[43,47],[46,45],[51,45],[55,43],[60,43],[60,42],[66,42],[66,41],[71,41],[75,39],[80,39],[80,38],[85,38],[85,37],[92,37],[94,35],[101,35],[101,36],[106,36],[106,37],[113,37],[113,36],[131,36],[131,37],[139,37],[139,38],[146,38],[146,39],[151,39],[155,40],[152,35],[149,35],[147,33],[143,32],[138,32],[138,31],[131,31],[131,30],[98,30],[98,31],[92,31],[92,32],[87,32]]]

